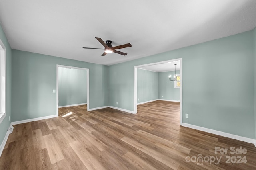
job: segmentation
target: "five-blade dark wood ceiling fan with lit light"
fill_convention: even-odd
[[[122,49],[122,48],[126,48],[126,47],[132,47],[132,45],[130,43],[128,44],[123,44],[123,45],[118,45],[116,47],[112,47],[111,43],[112,41],[107,40],[106,43],[101,39],[101,38],[97,38],[95,37],[105,48],[102,50],[105,50],[104,53],[101,56],[106,55],[107,53],[118,53],[121,55],[127,55],[127,53],[123,53],[121,51],[117,51],[116,49]],[[98,49],[98,48],[90,48],[90,47],[83,47],[84,49]]]

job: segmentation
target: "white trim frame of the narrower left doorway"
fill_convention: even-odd
[[[86,90],[85,90],[85,92],[84,92],[84,94],[86,95],[86,104],[87,104],[87,111],[88,111],[88,109],[89,109],[89,107],[90,107],[90,101],[89,101],[89,69],[87,69],[87,68],[80,68],[80,67],[73,67],[73,66],[64,66],[64,65],[57,65],[57,76],[56,76],[56,115],[58,116],[58,109],[59,109],[59,105],[61,105],[61,106],[63,106],[63,105],[65,105],[66,107],[68,107],[68,106],[77,106],[77,105],[79,105],[79,104],[73,104],[73,105],[68,105],[68,104],[66,104],[66,101],[60,101],[60,98],[59,98],[59,90],[60,90],[60,87],[59,87],[59,80],[60,80],[60,78],[61,78],[61,76],[60,76],[60,70],[64,70],[64,69],[67,69],[67,70],[70,70],[70,69],[75,69],[75,70],[77,70],[78,72],[80,72],[81,73],[81,71],[80,70],[83,70],[83,71],[86,71],[86,78],[85,78],[85,80],[86,80]],[[76,73],[76,72],[74,72],[74,73]],[[60,102],[61,102],[61,104],[60,104]],[[79,103],[79,102],[78,102]],[[84,103],[80,103],[80,104],[84,104]]]

